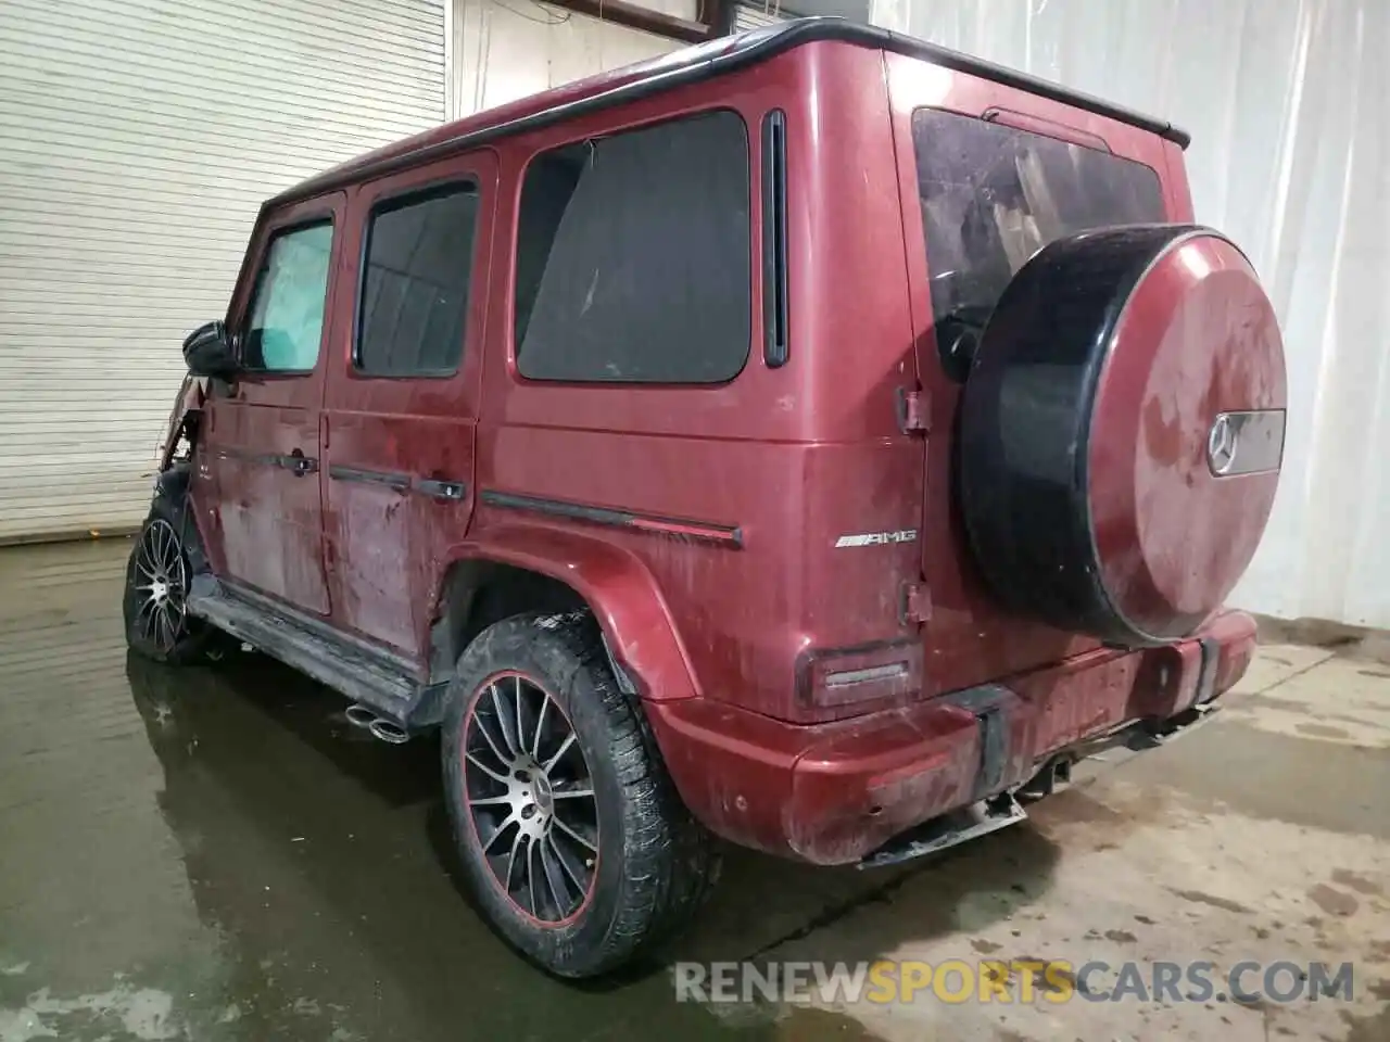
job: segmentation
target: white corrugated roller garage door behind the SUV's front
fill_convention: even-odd
[[[443,118],[442,0],[0,1],[0,542],[135,525],[260,201]]]

